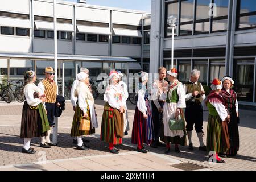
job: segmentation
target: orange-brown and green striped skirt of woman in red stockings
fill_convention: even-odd
[[[104,106],[101,121],[101,141],[121,144],[123,137],[123,114],[118,109],[110,107],[108,102]]]

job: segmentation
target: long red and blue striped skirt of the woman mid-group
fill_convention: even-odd
[[[133,144],[151,144],[154,139],[154,125],[148,100],[146,100],[146,106],[147,119],[143,118],[143,113],[139,111],[138,107],[135,109],[133,131],[131,134],[131,143]]]

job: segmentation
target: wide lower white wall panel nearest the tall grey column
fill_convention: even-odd
[[[141,46],[113,44],[112,56],[141,57]]]

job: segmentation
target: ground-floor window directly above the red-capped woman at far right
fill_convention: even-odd
[[[214,78],[218,78],[221,80],[226,75],[225,73],[226,73],[225,60],[210,61],[210,82],[212,82]]]

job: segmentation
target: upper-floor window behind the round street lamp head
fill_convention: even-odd
[[[175,3],[170,3],[170,4],[167,4],[166,5],[166,12],[167,12],[167,16],[166,16],[166,25],[167,25],[167,19],[168,19],[168,16],[175,16],[176,18],[178,17],[178,14],[179,14],[179,3],[178,2],[175,2]],[[175,34],[174,35],[177,35],[176,33],[176,27],[175,27]],[[170,26],[166,26],[166,32],[165,32],[166,36],[171,36],[172,35],[172,28]]]

